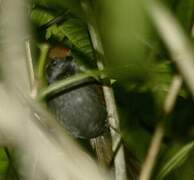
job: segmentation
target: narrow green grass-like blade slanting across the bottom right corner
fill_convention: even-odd
[[[182,147],[172,158],[170,158],[158,173],[157,180],[166,177],[171,171],[180,167],[189,157],[194,149],[194,142],[191,142]]]

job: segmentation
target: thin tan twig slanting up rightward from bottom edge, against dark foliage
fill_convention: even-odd
[[[164,101],[163,109],[164,109],[164,113],[166,116],[169,115],[174,108],[176,98],[180,91],[181,85],[182,85],[182,78],[179,75],[175,75],[172,80],[171,86],[169,88],[169,92]],[[154,132],[151,145],[148,150],[148,154],[142,166],[142,171],[140,173],[139,180],[149,180],[150,179],[153,167],[156,162],[157,155],[160,150],[160,145],[162,142],[162,138],[164,136],[164,132],[165,132],[164,124],[163,124],[163,121],[161,121],[157,125],[156,130]]]

